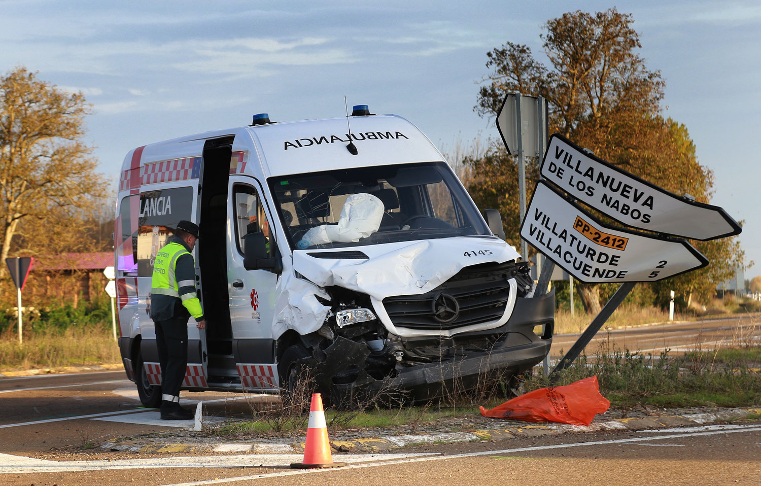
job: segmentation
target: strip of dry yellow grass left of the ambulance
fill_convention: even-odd
[[[35,329],[18,335],[11,330],[0,335],[0,367],[30,370],[86,364],[119,363],[119,346],[111,329],[103,326]]]

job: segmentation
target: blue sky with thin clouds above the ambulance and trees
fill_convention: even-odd
[[[368,104],[415,123],[444,153],[498,139],[474,111],[486,52],[527,44],[566,11],[632,14],[664,113],[715,174],[712,204],[744,221],[761,275],[761,4],[638,2],[114,2],[0,0],[0,72],[24,65],[93,105],[87,141],[116,179],[140,145],[212,129],[345,114]],[[114,184],[115,186],[115,184]]]

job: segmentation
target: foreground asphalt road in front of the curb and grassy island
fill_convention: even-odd
[[[759,433],[761,424],[744,424],[334,454],[336,462],[350,461],[341,469],[290,469],[298,456],[255,455],[174,458],[174,467],[166,458],[68,467],[29,462],[0,484],[759,484]]]

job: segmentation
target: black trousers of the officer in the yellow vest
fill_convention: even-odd
[[[178,403],[188,364],[188,319],[168,319],[155,325],[162,399]]]

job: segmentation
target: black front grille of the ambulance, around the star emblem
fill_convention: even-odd
[[[383,304],[394,326],[409,329],[454,329],[495,321],[505,313],[510,297],[508,280],[515,269],[514,262],[466,267],[432,291],[386,297]],[[451,322],[435,318],[432,304],[441,292],[460,304],[460,315]]]

